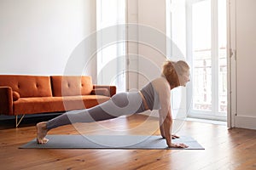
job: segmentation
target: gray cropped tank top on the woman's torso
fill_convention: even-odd
[[[143,87],[141,90],[149,109],[159,110],[160,109],[160,99],[159,95],[155,92],[154,87],[151,82]]]

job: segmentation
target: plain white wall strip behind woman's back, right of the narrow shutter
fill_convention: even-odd
[[[166,0],[138,0],[138,88],[160,76],[166,60]]]

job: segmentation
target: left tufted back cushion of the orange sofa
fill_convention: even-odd
[[[25,98],[52,96],[49,77],[0,75],[0,86],[9,86]]]

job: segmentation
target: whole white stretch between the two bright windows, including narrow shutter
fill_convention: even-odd
[[[166,0],[128,0],[128,90],[160,76],[166,57]],[[136,24],[137,27],[133,24]],[[132,40],[129,42],[129,40]]]

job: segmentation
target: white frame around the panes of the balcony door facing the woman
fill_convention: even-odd
[[[198,3],[206,0],[189,0],[186,4],[186,17],[187,17],[187,54],[188,60],[190,61],[190,66],[193,69],[193,47],[192,47],[192,4]],[[197,111],[193,110],[193,85],[188,87],[187,96],[191,105],[187,108],[188,116],[195,118],[204,118],[204,119],[214,119],[218,121],[227,121],[227,112],[219,112],[218,111],[218,1],[211,1],[211,24],[212,24],[212,47],[211,47],[211,56],[212,56],[212,111]],[[226,47],[227,48],[227,47]],[[191,56],[189,58],[189,56]],[[191,70],[192,70],[191,69]],[[191,82],[193,82],[193,71],[191,71]]]

